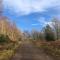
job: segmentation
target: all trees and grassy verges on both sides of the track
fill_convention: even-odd
[[[60,60],[60,21],[51,20],[40,31],[21,32],[7,17],[0,18],[0,60],[9,60],[23,41],[30,41],[44,53]]]

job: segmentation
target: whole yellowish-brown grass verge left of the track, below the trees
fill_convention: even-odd
[[[0,60],[10,60],[15,54],[15,50],[20,46],[20,43],[4,44],[0,48]]]

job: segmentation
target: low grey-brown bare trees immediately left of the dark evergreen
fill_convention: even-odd
[[[44,39],[43,32],[36,31],[36,30],[32,30],[31,37],[33,40],[41,40],[42,41]]]

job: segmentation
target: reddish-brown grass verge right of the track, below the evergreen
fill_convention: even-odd
[[[52,56],[55,60],[60,60],[60,41],[34,41],[33,44],[37,48],[42,49],[44,53]]]

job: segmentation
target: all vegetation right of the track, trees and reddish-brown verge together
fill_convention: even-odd
[[[25,36],[35,47],[42,49],[55,60],[60,60],[60,20],[58,18],[52,19],[51,25],[47,24],[41,31],[26,31]]]

